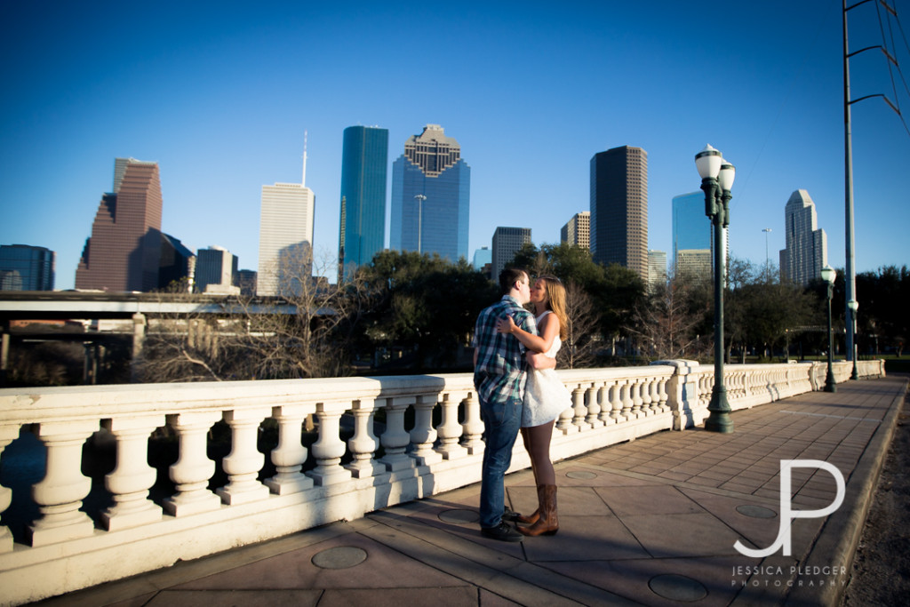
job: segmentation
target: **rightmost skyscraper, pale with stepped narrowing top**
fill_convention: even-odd
[[[828,239],[816,228],[815,203],[804,189],[790,195],[784,207],[786,248],[781,250],[781,275],[797,284],[822,277],[828,263]]]

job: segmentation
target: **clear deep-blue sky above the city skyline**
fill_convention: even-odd
[[[910,2],[891,2],[910,33]],[[850,37],[881,44],[875,3]],[[804,188],[843,267],[841,44],[836,0],[6,2],[0,243],[56,250],[72,288],[114,158],[136,157],[159,163],[165,232],[255,269],[260,188],[299,180],[308,131],[314,244],[334,256],[344,128],[388,128],[390,164],[435,123],[471,167],[471,254],[497,226],[559,242],[589,208],[591,157],[626,145],[648,152],[649,248],[669,252],[671,199],[698,189],[711,143],[737,167],[733,255],[763,263],[772,228],[776,262]],[[881,53],[851,76],[854,98],[885,93],[910,122]],[[857,271],[910,264],[910,135],[875,98],[853,106],[853,143]]]

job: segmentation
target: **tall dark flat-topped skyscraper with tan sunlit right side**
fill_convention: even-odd
[[[591,257],[648,280],[648,153],[641,147],[591,157]]]

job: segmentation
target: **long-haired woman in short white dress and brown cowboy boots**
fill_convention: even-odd
[[[541,276],[531,288],[531,304],[540,335],[520,329],[511,317],[500,319],[496,329],[514,335],[525,348],[555,359],[566,337],[566,291],[559,278]],[[556,513],[556,472],[550,460],[553,422],[571,407],[571,394],[562,385],[555,369],[530,369],[521,410],[521,437],[531,455],[531,470],[537,485],[538,509],[531,516],[515,514],[514,521],[529,524],[519,527],[525,535],[553,535],[560,524]]]

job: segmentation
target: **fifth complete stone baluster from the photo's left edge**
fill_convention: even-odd
[[[313,486],[313,480],[300,471],[307,460],[307,448],[300,442],[303,420],[312,413],[308,405],[280,405],[272,408],[278,422],[278,446],[271,451],[275,476],[266,479],[268,490],[276,495],[299,493]]]

